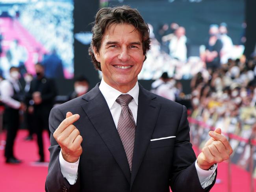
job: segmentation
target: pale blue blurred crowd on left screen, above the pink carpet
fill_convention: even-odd
[[[19,9],[19,22],[43,44],[50,52],[49,55],[53,52],[59,55],[67,78],[71,78],[70,74],[74,73],[73,9],[72,1],[38,1]],[[45,54],[43,50],[37,52],[39,55]]]

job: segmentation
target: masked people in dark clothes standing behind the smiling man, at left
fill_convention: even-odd
[[[20,72],[20,68],[12,66],[9,69],[9,77],[0,78],[0,105],[4,106],[4,128],[7,131],[5,157],[7,163],[20,163],[13,153],[13,146],[17,131],[20,128],[21,119],[23,126],[28,129],[25,140],[37,141],[39,160],[45,162],[43,150],[43,130],[48,128],[50,110],[56,103],[57,87],[53,79],[45,74],[45,67],[41,63],[35,64],[36,76]],[[74,99],[85,94],[89,89],[89,81],[83,77],[74,80],[74,91],[67,98]],[[20,118],[23,116],[23,118]],[[33,137],[36,135],[36,137]]]

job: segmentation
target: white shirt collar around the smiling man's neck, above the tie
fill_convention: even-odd
[[[104,79],[102,78],[99,86],[100,92],[104,96],[106,102],[108,103],[109,109],[113,106],[115,103],[115,100],[121,95],[124,94],[120,92],[119,90],[114,89],[113,87],[109,86]],[[129,94],[134,98],[134,101],[136,105],[138,105],[138,98],[139,98],[139,84],[138,81],[136,82],[135,86],[129,90],[126,94]]]

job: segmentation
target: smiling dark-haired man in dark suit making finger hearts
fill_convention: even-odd
[[[89,54],[103,78],[87,94],[52,109],[46,191],[209,191],[215,163],[232,149],[217,129],[196,159],[186,108],[137,83],[150,48],[139,12],[102,8],[92,31]]]

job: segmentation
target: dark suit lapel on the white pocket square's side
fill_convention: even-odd
[[[160,104],[154,101],[154,98],[156,98],[154,94],[151,94],[139,85],[137,126],[130,189],[132,189],[132,184],[148,148],[160,110]]]

